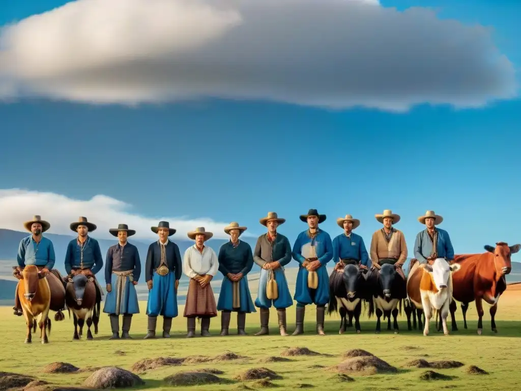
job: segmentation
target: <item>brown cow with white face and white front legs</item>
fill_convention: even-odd
[[[407,277],[407,296],[410,302],[425,314],[424,335],[429,334],[431,317],[436,319],[439,311],[443,324],[443,334],[448,335],[447,316],[452,301],[452,273],[460,270],[460,265],[449,265],[443,258],[432,264],[421,264],[411,268]]]

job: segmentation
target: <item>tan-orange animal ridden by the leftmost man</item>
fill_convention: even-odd
[[[31,328],[34,326],[36,317],[40,315],[40,337],[42,344],[49,342],[47,330],[51,332],[51,320],[48,318],[49,307],[51,306],[51,289],[45,275],[38,271],[38,267],[27,265],[20,274],[20,287],[18,288],[18,298],[22,305],[23,317],[26,319],[27,336],[25,343],[32,342]]]

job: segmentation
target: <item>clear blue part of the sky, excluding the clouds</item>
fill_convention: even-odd
[[[0,24],[63,3],[10,2]],[[494,43],[518,69],[518,4],[421,6],[439,7],[440,18],[493,26]],[[481,252],[486,244],[521,240],[519,113],[517,99],[389,112],[261,100],[129,107],[26,97],[0,103],[0,183],[79,200],[103,194],[150,219],[239,221],[252,234],[263,232],[259,218],[276,211],[288,219],[281,231],[290,240],[305,229],[299,215],[309,208],[327,214],[322,228],[332,237],[341,233],[336,218],[350,213],[361,219],[356,232],[367,246],[381,227],[374,214],[392,209],[402,216],[396,228],[410,251],[422,229],[416,218],[429,209],[444,216],[440,228],[449,231],[456,253]],[[35,210],[31,205],[16,218]],[[77,210],[69,211],[73,221]]]

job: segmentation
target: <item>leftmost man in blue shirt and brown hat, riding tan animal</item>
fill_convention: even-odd
[[[23,223],[23,226],[31,232],[32,235],[23,238],[18,246],[17,261],[18,266],[14,267],[13,275],[20,279],[21,272],[26,265],[36,265],[40,273],[46,276],[49,288],[51,289],[51,307],[52,311],[56,311],[56,321],[65,319],[61,312],[65,309],[65,288],[63,278],[60,273],[54,269],[56,261],[54,246],[51,239],[43,237],[43,233],[51,227],[51,224],[42,220],[41,216],[36,215],[31,221]],[[50,273],[49,273],[50,272]],[[22,315],[22,307],[18,298],[18,287],[15,292],[15,315]]]

